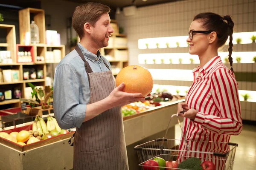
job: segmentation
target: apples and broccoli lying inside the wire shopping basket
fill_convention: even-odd
[[[143,170],[172,170],[186,169],[186,170],[215,170],[215,164],[211,161],[204,161],[201,163],[199,158],[188,158],[178,164],[176,161],[165,161],[161,157],[155,157],[143,163]],[[173,169],[173,170],[175,170]]]

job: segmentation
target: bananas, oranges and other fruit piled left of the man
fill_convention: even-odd
[[[13,131],[10,134],[0,132],[0,137],[24,146],[66,133],[69,133],[69,130],[61,129],[56,119],[49,115],[47,123],[40,116],[36,116],[32,124],[32,130]]]

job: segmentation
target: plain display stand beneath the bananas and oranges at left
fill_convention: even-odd
[[[28,127],[22,128],[29,130]],[[0,138],[0,170],[70,170],[73,147],[68,140],[72,135],[73,132],[25,146]]]

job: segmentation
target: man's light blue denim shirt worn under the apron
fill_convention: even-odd
[[[78,46],[93,72],[109,70],[102,59],[111,68],[99,51],[95,55],[80,43]],[[80,127],[86,114],[86,105],[90,101],[90,87],[84,61],[76,50],[67,54],[55,68],[53,89],[54,116],[58,125],[61,129]]]

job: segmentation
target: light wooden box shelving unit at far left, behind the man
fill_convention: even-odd
[[[32,44],[29,40],[29,45],[24,45],[23,36],[26,32],[30,32],[31,20],[35,21],[39,29],[40,42],[38,44]],[[19,28],[20,28],[20,44],[16,45],[15,39],[15,26],[0,24],[0,28],[7,30],[6,43],[0,43],[0,47],[6,47],[11,51],[12,63],[0,63],[2,69],[15,69],[20,71],[20,80],[18,82],[0,82],[0,89],[9,89],[19,87],[21,89],[21,97],[25,97],[25,88],[29,87],[28,83],[31,82],[34,85],[45,86],[45,77],[47,76],[47,65],[58,62],[45,62],[37,61],[37,56],[45,57],[47,51],[53,51],[55,49],[61,50],[61,58],[65,56],[65,45],[46,45],[45,37],[45,18],[43,9],[25,8],[19,11]],[[17,62],[17,51],[19,47],[27,48],[25,51],[30,51],[32,56],[32,62]],[[43,70],[43,79],[29,79],[23,80],[23,69],[35,68]],[[13,94],[12,94],[13,96]],[[10,99],[0,102],[0,110],[4,108],[20,107],[19,99]]]

